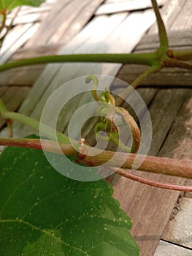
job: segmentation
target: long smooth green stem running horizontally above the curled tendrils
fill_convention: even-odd
[[[151,66],[156,59],[155,53],[129,53],[129,54],[72,54],[40,56],[30,59],[20,59],[0,65],[0,72],[15,67],[59,62],[108,62],[122,64],[143,64]]]

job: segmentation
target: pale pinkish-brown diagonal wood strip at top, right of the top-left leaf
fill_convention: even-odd
[[[93,12],[103,0],[62,1],[43,20],[39,31],[28,45],[52,44],[69,42],[77,31],[91,18]],[[47,30],[47,24],[51,24]]]

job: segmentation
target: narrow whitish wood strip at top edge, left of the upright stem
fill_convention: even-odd
[[[166,0],[158,0],[158,5],[164,5]],[[150,0],[134,1],[112,1],[105,2],[97,10],[96,15],[112,14],[116,12],[131,12],[134,10],[144,10],[152,7]]]

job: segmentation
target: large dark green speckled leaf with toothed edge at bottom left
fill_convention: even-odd
[[[139,255],[107,182],[61,176],[27,148],[6,148],[0,166],[1,256]]]

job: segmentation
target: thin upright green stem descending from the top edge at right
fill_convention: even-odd
[[[158,37],[159,37],[160,47],[163,48],[164,50],[168,50],[169,40],[166,34],[164,20],[161,18],[161,13],[159,12],[157,1],[151,0],[151,2],[152,2],[153,10],[155,11],[155,16],[158,23]]]

